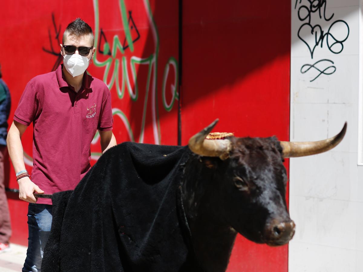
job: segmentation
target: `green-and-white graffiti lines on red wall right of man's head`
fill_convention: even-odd
[[[126,41],[130,48],[130,51],[134,51],[134,43],[132,41],[131,37],[131,31],[129,26],[129,20],[127,18],[127,7],[125,0],[119,0],[119,9],[120,9],[120,16],[122,18],[122,26],[125,31]],[[103,81],[106,83],[107,87],[111,90],[113,86],[115,85],[116,92],[119,99],[123,99],[125,96],[125,88],[127,88],[127,92],[130,96],[130,99],[132,102],[136,102],[139,99],[139,84],[138,84],[138,78],[136,73],[136,67],[135,65],[148,65],[148,74],[147,74],[147,84],[146,84],[146,94],[144,97],[144,107],[143,107],[143,115],[142,115],[142,122],[141,122],[141,132],[139,137],[139,142],[143,142],[144,138],[144,128],[145,128],[145,120],[146,120],[146,114],[147,114],[147,106],[148,106],[148,99],[149,96],[151,96],[151,113],[152,113],[152,126],[154,131],[154,140],[156,144],[160,144],[161,142],[161,133],[160,133],[160,121],[159,121],[159,109],[158,109],[158,88],[157,88],[157,78],[158,78],[158,57],[159,57],[159,33],[158,29],[156,27],[156,23],[154,20],[154,17],[152,15],[150,3],[148,0],[144,0],[144,7],[147,12],[149,24],[150,24],[150,32],[152,33],[152,36],[154,37],[154,46],[155,46],[155,52],[151,53],[146,58],[140,58],[137,56],[131,56],[129,61],[127,60],[125,56],[125,51],[123,49],[123,46],[120,42],[119,36],[115,35],[113,37],[113,44],[110,47],[108,43],[105,43],[103,46],[103,52],[105,55],[108,54],[108,52],[111,52],[111,56],[107,58],[105,61],[101,62],[98,59],[98,53],[95,52],[94,55],[94,64],[97,67],[104,67],[104,73],[103,73]],[[98,39],[100,37],[100,22],[99,22],[99,6],[98,6],[98,0],[94,0],[94,15],[95,15],[95,44],[98,44]],[[123,54],[122,57],[117,58],[117,53],[120,52]],[[120,59],[121,58],[121,59]],[[120,63],[121,62],[121,63]],[[127,69],[127,62],[130,64],[130,70],[131,70],[131,76],[132,81],[134,83],[134,87],[131,86],[130,83],[130,77],[128,74]],[[113,71],[110,71],[110,67],[113,64]],[[166,102],[165,97],[165,88],[166,88],[166,80],[168,78],[169,74],[169,66],[174,67],[175,72],[175,82],[171,86],[172,89],[172,99],[170,103],[168,104]],[[120,71],[122,69],[122,71]],[[120,75],[122,79],[120,80]],[[121,84],[120,84],[121,83]],[[150,92],[151,89],[151,92]],[[165,69],[164,69],[164,76],[163,76],[163,86],[162,86],[162,100],[163,100],[163,106],[166,111],[171,111],[174,106],[174,101],[176,99],[179,99],[178,95],[178,62],[174,57],[170,57]],[[125,116],[125,120],[127,120]],[[129,128],[131,129],[131,127]]]

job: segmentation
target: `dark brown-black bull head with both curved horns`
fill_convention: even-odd
[[[193,182],[185,186],[187,193],[184,199],[189,201],[186,202],[187,208],[195,214],[208,213],[212,209],[216,218],[222,218],[221,221],[254,242],[270,246],[288,243],[294,235],[295,224],[286,207],[287,175],[283,159],[318,154],[334,148],[343,139],[347,124],[338,135],[317,142],[284,142],[276,137],[206,139],[217,121],[189,140],[191,151],[204,156],[199,161],[208,169],[213,168],[211,164],[214,164],[215,170],[205,170],[205,173],[214,171],[210,173],[214,186],[208,189],[211,195],[208,201],[204,200],[207,199],[205,196],[195,197],[195,192],[198,192],[196,188],[188,190],[188,186],[196,187],[199,182],[189,178]],[[221,160],[208,157],[219,157]],[[193,167],[192,163],[190,167]],[[200,175],[204,180],[207,179],[205,173]],[[210,203],[220,199],[221,195],[224,205],[212,207]],[[208,204],[202,211],[199,206],[203,205],[203,201]]]

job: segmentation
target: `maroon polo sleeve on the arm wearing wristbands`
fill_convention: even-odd
[[[23,94],[19,100],[19,104],[14,113],[14,120],[23,125],[30,125],[36,118],[39,111],[39,101],[37,91],[32,81],[26,84]]]

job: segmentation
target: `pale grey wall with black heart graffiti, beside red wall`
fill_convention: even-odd
[[[359,0],[291,1],[290,141],[333,150],[290,159],[290,272],[363,271],[362,35]]]

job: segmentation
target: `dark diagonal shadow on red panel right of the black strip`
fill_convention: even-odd
[[[289,5],[198,1],[185,3],[183,14],[183,91],[193,93],[183,96],[183,104],[228,91],[268,63],[290,54]]]

